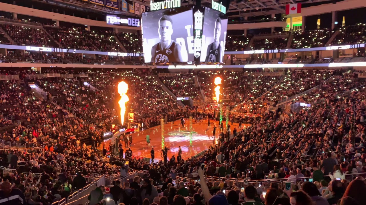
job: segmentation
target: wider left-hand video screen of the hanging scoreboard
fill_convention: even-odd
[[[194,61],[193,11],[190,7],[142,13],[146,63]]]

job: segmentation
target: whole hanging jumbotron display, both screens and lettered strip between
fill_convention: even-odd
[[[180,7],[142,13],[146,63],[222,62],[226,16],[206,7]]]

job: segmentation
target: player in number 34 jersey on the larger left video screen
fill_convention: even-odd
[[[187,62],[188,54],[186,49],[172,40],[173,21],[164,15],[159,19],[160,43],[154,45],[151,49],[152,62]]]

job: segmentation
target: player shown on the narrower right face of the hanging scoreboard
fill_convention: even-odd
[[[221,19],[217,18],[215,22],[215,30],[213,33],[213,43],[211,43],[207,48],[207,55],[205,62],[222,61],[220,35],[221,35]]]

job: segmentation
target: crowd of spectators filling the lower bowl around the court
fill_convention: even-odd
[[[45,72],[58,70],[49,69]],[[37,72],[1,71],[1,74],[31,73]],[[111,156],[110,159],[102,157],[107,153],[107,148],[101,148],[104,128],[101,126],[97,130],[96,124],[99,125],[100,121],[114,115],[112,106],[115,102],[112,99],[119,98],[118,94],[114,96],[116,82],[128,82],[130,88],[127,95],[130,102],[127,106],[141,118],[140,122],[156,122],[158,115],[166,112],[169,112],[171,119],[182,115],[187,117],[189,113],[195,116],[208,115],[214,119],[212,112],[206,112],[202,107],[173,111],[171,107],[177,106],[176,102],[163,91],[152,73],[147,70],[89,72],[88,79],[27,80],[36,82],[51,94],[47,99],[38,98],[17,81],[1,81],[1,102],[4,105],[15,105],[14,108],[1,107],[4,112],[9,112],[4,115],[10,114],[18,117],[18,120],[25,120],[10,131],[6,128],[10,125],[9,121],[0,121],[1,127],[7,130],[1,130],[3,139],[29,142],[30,147],[34,147],[1,152],[1,165],[16,170],[12,173],[1,173],[2,191],[8,194],[7,186],[10,186],[10,189],[20,189],[25,193],[25,200],[30,204],[52,204],[96,179],[96,174],[111,175],[118,171],[120,174],[125,173],[125,168],[120,170],[117,166],[123,167],[128,161],[127,169],[148,170],[144,179],[136,177],[134,182],[124,183],[123,189],[119,181],[115,181],[113,187],[98,187],[89,197],[90,204],[96,205],[103,198],[107,204],[112,199],[112,204],[122,202],[159,205],[193,205],[205,202],[213,205],[218,202],[225,205],[242,202],[269,205],[279,196],[280,204],[300,204],[298,201],[302,200],[302,204],[306,205],[313,205],[317,201],[333,205],[339,200],[359,200],[351,194],[350,189],[363,190],[366,186],[366,155],[363,147],[366,96],[365,88],[359,88],[364,83],[356,77],[356,73],[345,70],[287,71],[282,79],[281,76],[266,76],[265,72],[246,71],[201,71],[197,75],[205,93],[212,93],[213,85],[210,82],[214,77],[222,77],[225,88],[223,98],[229,96],[228,105],[231,108],[231,104],[249,102],[252,99],[277,102],[317,85],[320,85],[321,90],[313,89],[309,93],[309,96],[317,97],[311,98],[313,103],[310,108],[296,112],[289,111],[283,115],[261,112],[261,115],[255,116],[242,114],[244,112],[233,113],[230,120],[252,126],[239,128],[232,136],[230,132],[221,133],[217,144],[210,146],[201,156],[189,159],[178,156],[176,159],[172,157],[170,160],[150,163],[131,158],[132,151],[129,150],[126,155]],[[184,85],[187,77],[193,76],[185,74],[181,80],[169,80],[183,81],[179,84]],[[324,82],[330,76],[333,76],[332,81]],[[97,90],[83,82],[93,85]],[[30,100],[25,96],[34,99]],[[50,99],[55,99],[55,96],[64,99],[64,108],[61,106],[63,101],[52,103]],[[212,97],[209,94],[207,96]],[[300,96],[299,100],[310,101],[310,98],[302,97],[304,96]],[[88,119],[93,123],[100,121],[89,123],[86,116],[90,116]],[[87,133],[82,134],[84,131]],[[81,140],[84,137],[95,139],[97,146],[93,149],[88,147]],[[185,175],[187,180],[175,181],[178,173]],[[220,177],[220,181],[206,181],[204,176]],[[306,178],[312,178],[313,182],[302,183]],[[279,186],[278,183],[253,187],[249,185],[249,179],[283,179],[292,185],[290,189]],[[156,188],[157,185],[162,187]],[[241,188],[244,190],[241,191]],[[123,197],[120,193],[123,193]]]

